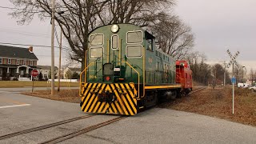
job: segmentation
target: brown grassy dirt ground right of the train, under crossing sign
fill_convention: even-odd
[[[236,88],[234,97],[234,114],[232,114],[232,89],[230,87],[214,90],[207,88],[198,93],[162,103],[158,107],[204,114],[256,126],[256,93]]]

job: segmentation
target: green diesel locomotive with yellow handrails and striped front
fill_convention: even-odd
[[[152,34],[132,24],[113,24],[88,37],[81,73],[80,106],[88,113],[134,115],[159,99],[180,95],[174,58],[156,48]]]

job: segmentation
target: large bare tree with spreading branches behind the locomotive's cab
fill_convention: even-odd
[[[50,20],[50,0],[10,0],[18,9],[10,13],[19,18],[18,23],[30,23],[35,15],[42,20]],[[97,26],[121,22],[150,26],[158,21],[158,16],[172,6],[173,0],[57,0],[55,20],[58,22],[73,53],[70,58],[82,62],[88,49],[87,36]]]

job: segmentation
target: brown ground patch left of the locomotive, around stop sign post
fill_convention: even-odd
[[[40,98],[48,98],[56,101],[62,101],[62,102],[73,102],[73,103],[79,103],[80,102],[80,96],[78,94],[78,89],[71,89],[71,90],[60,90],[59,92],[57,90],[54,91],[54,95],[51,95],[50,90],[37,90],[32,92],[23,92],[22,94],[40,97]]]

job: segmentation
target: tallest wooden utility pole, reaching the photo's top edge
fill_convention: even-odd
[[[52,0],[51,9],[51,95],[54,95],[54,7],[55,0]]]

